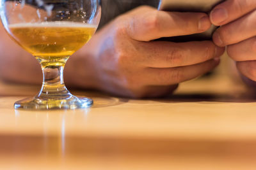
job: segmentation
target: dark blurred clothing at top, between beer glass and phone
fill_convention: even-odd
[[[159,0],[101,0],[102,15],[99,28],[113,20],[118,15],[125,13],[141,5],[156,7]]]

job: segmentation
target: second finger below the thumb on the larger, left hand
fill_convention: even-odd
[[[147,68],[143,80],[149,85],[174,85],[182,81],[191,80],[202,74],[205,74],[220,63],[219,59],[209,60],[193,66],[175,67],[175,68]]]

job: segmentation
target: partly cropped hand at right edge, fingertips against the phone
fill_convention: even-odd
[[[256,1],[227,0],[211,11],[210,18],[221,25],[213,34],[214,43],[227,46],[237,69],[256,81]]]

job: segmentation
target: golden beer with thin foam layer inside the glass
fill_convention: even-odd
[[[58,60],[72,55],[87,43],[95,25],[76,22],[43,22],[11,24],[9,33],[26,51],[45,60]]]

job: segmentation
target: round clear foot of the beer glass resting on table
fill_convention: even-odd
[[[71,96],[67,99],[42,99],[40,97],[22,99],[14,103],[15,109],[24,110],[67,110],[89,108],[93,100],[85,97]]]

